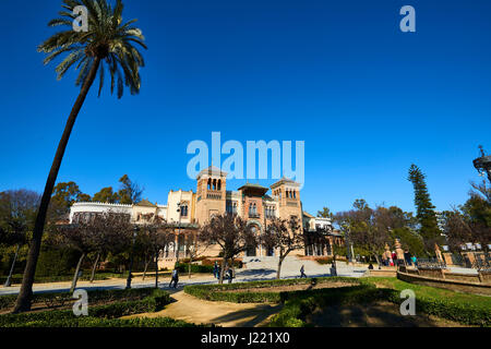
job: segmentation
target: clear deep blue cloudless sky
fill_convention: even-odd
[[[94,194],[128,173],[166,203],[170,189],[195,190],[185,149],[213,131],[244,146],[304,141],[311,213],[358,197],[412,210],[412,163],[439,209],[479,180],[477,146],[491,152],[490,1],[124,2],[149,47],[141,94],[93,88],[59,181]],[[40,192],[77,88],[36,52],[61,1],[27,3],[0,2],[0,190]],[[399,31],[405,4],[416,33]]]

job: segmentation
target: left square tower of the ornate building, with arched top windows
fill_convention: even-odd
[[[205,224],[213,215],[223,215],[226,203],[227,173],[215,166],[205,168],[197,174],[196,220]]]

